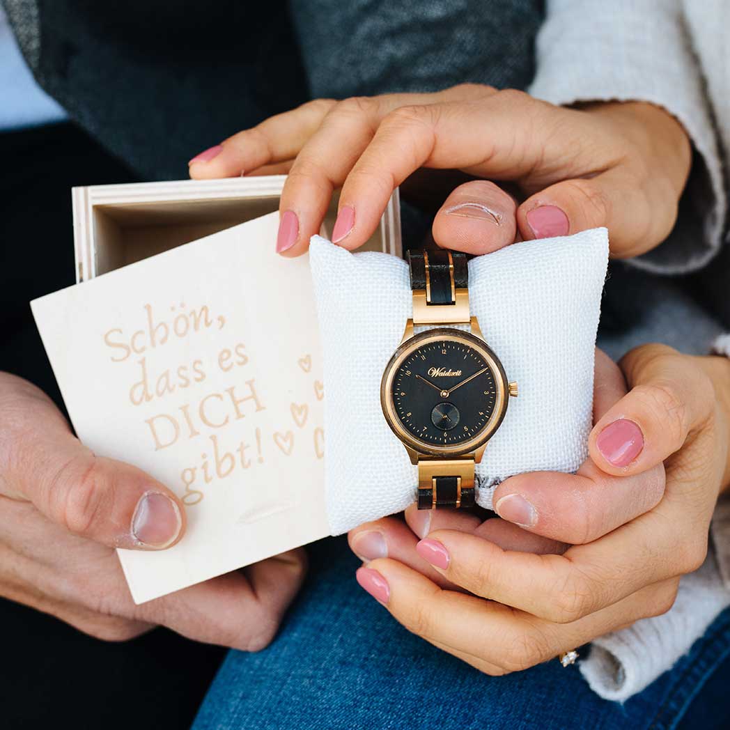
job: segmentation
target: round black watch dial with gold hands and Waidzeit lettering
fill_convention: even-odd
[[[434,446],[476,437],[494,411],[497,388],[482,354],[461,340],[427,342],[402,361],[392,381],[404,429]]]

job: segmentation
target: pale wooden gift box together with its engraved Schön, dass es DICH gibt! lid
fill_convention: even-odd
[[[137,603],[329,532],[309,261],[274,253],[282,184],[77,188],[81,283],[31,304],[78,437],[186,505],[174,548],[119,551]],[[371,245],[399,253],[394,205]]]

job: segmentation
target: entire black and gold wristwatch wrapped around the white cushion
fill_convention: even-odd
[[[466,255],[423,250],[408,261],[413,316],[385,366],[380,404],[418,466],[418,509],[473,507],[475,464],[517,383],[469,314]]]

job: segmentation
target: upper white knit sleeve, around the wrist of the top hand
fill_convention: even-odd
[[[712,110],[680,0],[548,0],[530,92],[563,105],[648,101],[674,115],[694,145],[691,178],[675,230],[632,263],[679,274],[710,261],[721,246],[726,193]]]

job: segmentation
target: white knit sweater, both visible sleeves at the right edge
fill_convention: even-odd
[[[531,93],[554,104],[650,101],[683,123],[699,153],[685,193],[691,212],[666,242],[634,260],[653,272],[712,266],[727,236],[729,28],[728,0],[548,0]],[[730,336],[716,346],[730,356]],[[600,696],[623,701],[641,691],[730,605],[726,499],[715,511],[712,544],[702,568],[681,581],[669,612],[593,642],[580,669]]]

